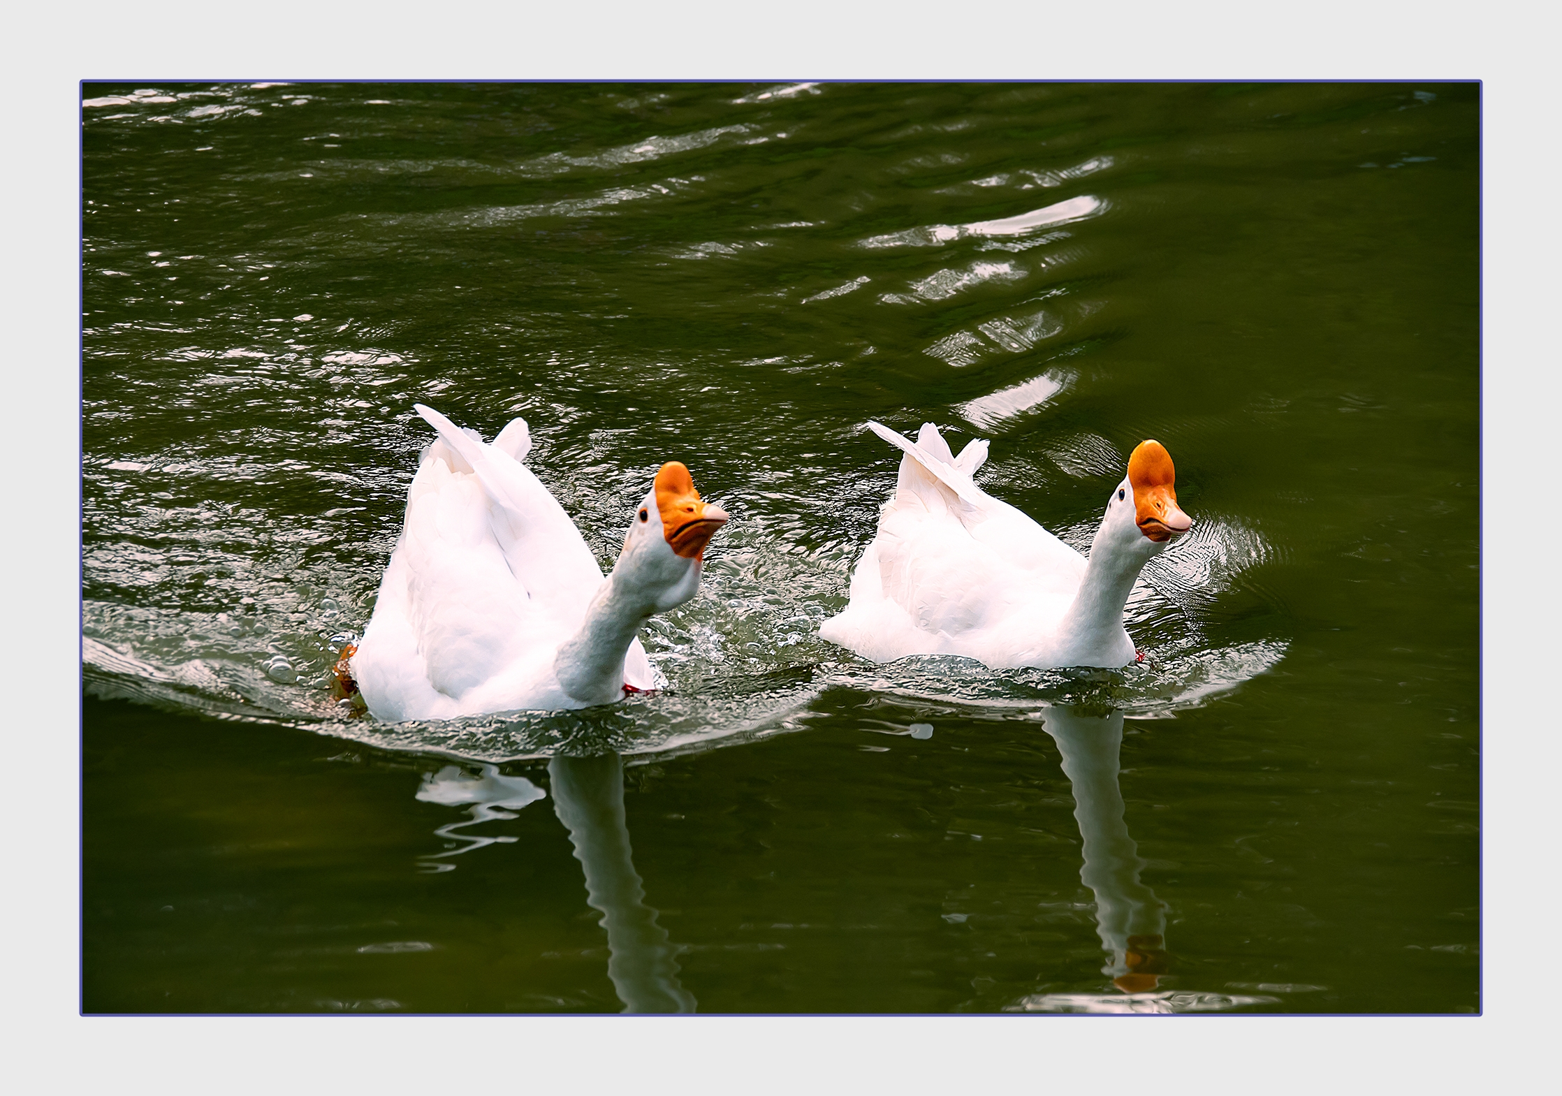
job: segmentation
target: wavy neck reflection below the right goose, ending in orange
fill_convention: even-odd
[[[1117,785],[1123,713],[1089,717],[1050,707],[1043,721],[1073,785],[1075,820],[1084,840],[1079,879],[1095,891],[1097,931],[1112,952],[1103,973],[1122,990],[1153,990],[1165,973],[1165,904],[1139,882],[1145,862],[1123,820]]]

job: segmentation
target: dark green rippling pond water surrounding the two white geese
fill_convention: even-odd
[[[83,100],[86,1012],[1479,1010],[1476,84]],[[417,401],[733,514],[669,692],[334,704]],[[1148,662],[822,642],[867,418],[1078,546],[1164,442]]]

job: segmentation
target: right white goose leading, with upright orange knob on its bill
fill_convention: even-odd
[[[937,426],[901,448],[895,493],[851,576],[845,612],[820,637],[865,659],[962,654],[989,667],[1122,667],[1137,656],[1123,606],[1145,562],[1193,520],[1176,504],[1172,456],[1140,442],[1112,490],[1089,560],[972,481],[975,440],[956,457]]]

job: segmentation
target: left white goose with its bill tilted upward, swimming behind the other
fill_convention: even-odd
[[[608,578],[548,489],[522,464],[515,418],[492,445],[415,404],[423,450],[373,618],[348,670],[378,720],[609,704],[659,676],[636,632],[700,587],[726,512],[664,464]]]

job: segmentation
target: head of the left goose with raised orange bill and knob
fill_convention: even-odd
[[[700,589],[704,546],[723,525],[726,511],[703,501],[689,468],[669,461],[629,521],[614,584],[644,593],[651,612],[681,606]]]

